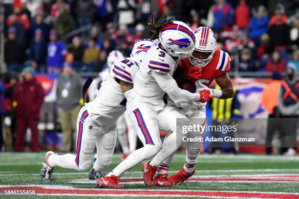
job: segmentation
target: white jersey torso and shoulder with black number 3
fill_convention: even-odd
[[[143,58],[139,70],[133,79],[134,87],[130,96],[134,99],[138,98],[140,101],[152,104],[156,107],[156,110],[164,107],[163,96],[165,92],[151,76],[150,71],[153,70],[158,73],[170,74],[172,76],[176,69],[176,60],[174,60],[165,50],[157,48],[157,45],[158,42],[155,40],[146,56]]]

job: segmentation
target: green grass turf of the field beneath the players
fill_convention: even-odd
[[[39,185],[39,172],[44,153],[0,153],[0,185]],[[114,155],[112,164],[107,171],[113,169],[121,160],[120,155]],[[180,170],[184,164],[184,154],[174,156],[170,171]],[[140,166],[137,165],[122,177],[142,177]],[[195,175],[258,175],[258,174],[299,174],[298,157],[258,156],[258,155],[200,155],[196,164]],[[63,168],[55,168],[53,181],[47,185],[64,185],[74,188],[96,188],[93,183],[77,183],[76,180],[87,179],[86,172],[77,172]],[[163,187],[147,187],[144,184],[125,184],[126,189],[165,189]],[[297,193],[299,183],[294,182],[185,182],[180,186],[167,187],[180,190],[207,191],[257,191]],[[0,196],[1,198],[1,196]],[[55,198],[55,199],[85,199],[84,196],[5,196],[7,199]],[[103,198],[103,197],[101,197]],[[104,197],[119,198],[119,197]],[[164,197],[156,197],[164,198]],[[167,197],[165,197],[167,198]],[[173,198],[173,197],[171,197]]]

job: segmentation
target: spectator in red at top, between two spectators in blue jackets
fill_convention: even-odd
[[[249,25],[250,10],[246,4],[246,0],[240,0],[240,3],[235,9],[235,24],[240,29],[246,29]]]

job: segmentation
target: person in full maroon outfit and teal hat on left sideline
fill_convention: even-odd
[[[40,109],[43,103],[43,87],[34,78],[34,69],[26,66],[23,69],[23,81],[16,86],[13,94],[13,107],[17,117],[17,139],[15,151],[24,150],[24,138],[28,127],[31,129],[31,151],[39,152],[39,131]],[[26,97],[24,97],[26,96]]]

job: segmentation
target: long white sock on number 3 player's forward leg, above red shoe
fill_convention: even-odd
[[[127,159],[122,161],[119,165],[117,165],[112,170],[112,172],[113,172],[112,174],[115,176],[121,176],[123,173],[128,171],[133,166],[136,166],[137,164],[141,163],[142,161],[144,161],[146,159],[150,159],[153,156],[155,156],[159,150],[160,150],[160,147],[158,147],[158,146],[146,144],[144,147],[137,149],[137,150],[133,151],[132,153],[130,153],[130,155],[127,157]]]

